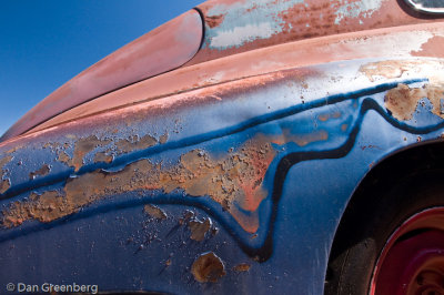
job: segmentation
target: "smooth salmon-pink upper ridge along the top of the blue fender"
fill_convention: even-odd
[[[164,102],[164,108],[169,108],[174,102],[170,98],[163,99],[168,94],[211,85],[216,85],[215,89],[219,89],[220,84],[232,81],[239,81],[239,84],[251,88],[270,79],[276,79],[275,75],[270,74],[270,78],[264,81],[264,78],[258,78],[260,74],[296,67],[384,57],[443,58],[442,43],[435,42],[435,38],[444,38],[444,23],[406,26],[391,28],[390,30],[377,29],[302,40],[280,47],[249,51],[205,62],[205,67],[196,64],[179,69],[112,92],[56,116],[31,132],[145,101],[159,100]],[[209,89],[209,91],[212,90]]]

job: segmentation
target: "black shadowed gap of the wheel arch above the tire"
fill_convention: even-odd
[[[335,273],[332,269],[334,267],[331,267],[331,263],[341,255],[347,255],[344,254],[346,250],[357,243],[359,235],[350,238],[351,233],[360,231],[362,224],[356,221],[363,218],[362,214],[376,207],[375,203],[380,200],[374,197],[375,194],[400,183],[406,183],[410,187],[414,187],[415,183],[422,184],[422,187],[437,183],[438,176],[444,175],[443,150],[444,141],[442,140],[420,142],[386,155],[364,175],[349,199],[334,233],[325,273],[325,294],[336,294],[337,282],[335,282]],[[415,183],[408,183],[412,179]]]

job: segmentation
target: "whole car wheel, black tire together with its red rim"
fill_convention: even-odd
[[[443,177],[428,172],[390,189],[386,182],[352,200],[333,244],[325,294],[444,294]]]

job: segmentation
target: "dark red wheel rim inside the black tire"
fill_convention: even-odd
[[[444,207],[414,214],[391,235],[376,266],[371,295],[444,295]]]

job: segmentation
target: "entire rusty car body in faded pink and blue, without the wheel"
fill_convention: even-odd
[[[1,284],[389,294],[408,234],[432,254],[396,291],[442,291],[444,19],[420,2],[211,0],[73,78],[0,143]]]

